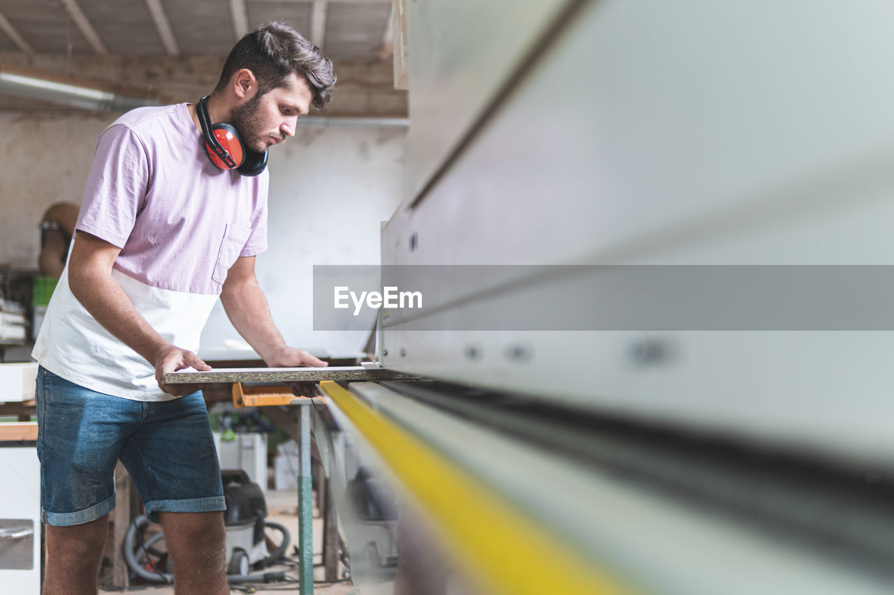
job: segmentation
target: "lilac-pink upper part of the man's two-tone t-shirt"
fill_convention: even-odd
[[[125,113],[100,135],[76,229],[122,248],[152,287],[220,294],[237,256],[266,249],[267,174],[223,172],[186,104]]]

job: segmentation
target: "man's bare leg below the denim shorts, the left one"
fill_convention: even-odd
[[[69,527],[46,525],[44,595],[97,595],[108,518]]]

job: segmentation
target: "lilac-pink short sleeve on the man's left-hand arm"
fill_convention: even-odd
[[[75,229],[124,247],[148,180],[149,161],[137,135],[123,124],[109,126],[97,140]]]

